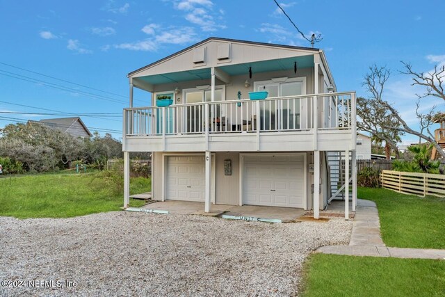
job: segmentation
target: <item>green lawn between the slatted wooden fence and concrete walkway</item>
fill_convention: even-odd
[[[358,197],[378,207],[387,246],[445,249],[445,199],[405,195],[385,188],[359,188]]]

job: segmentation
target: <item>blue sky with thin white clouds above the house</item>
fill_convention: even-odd
[[[411,62],[419,71],[445,63],[444,1],[280,3],[303,32],[321,33],[323,40],[316,47],[326,51],[339,90],[366,95],[361,82],[369,65],[391,68],[387,99],[416,126],[415,94],[421,90],[410,86],[410,77],[397,70],[400,61]],[[127,73],[210,36],[309,46],[273,0],[0,0],[0,111],[111,113],[82,119],[88,127],[109,129],[121,138],[122,122],[115,116],[127,106]],[[147,98],[147,93],[136,93],[140,106],[147,105]],[[439,99],[424,99],[421,106],[428,110],[433,104],[444,110]],[[3,127],[15,121],[4,117],[56,116],[0,113],[0,117]]]

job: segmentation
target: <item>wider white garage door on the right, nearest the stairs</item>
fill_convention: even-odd
[[[243,204],[303,208],[304,156],[245,155]]]

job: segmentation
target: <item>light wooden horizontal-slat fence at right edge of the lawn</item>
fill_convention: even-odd
[[[399,193],[445,197],[445,175],[383,170],[382,187]]]

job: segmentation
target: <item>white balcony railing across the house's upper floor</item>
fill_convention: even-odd
[[[317,106],[314,112],[314,106]],[[125,136],[351,129],[355,93],[124,109]],[[206,129],[208,127],[208,129]]]

